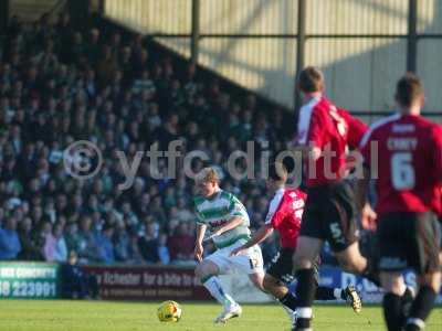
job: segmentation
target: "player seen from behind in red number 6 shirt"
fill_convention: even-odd
[[[389,331],[423,330],[441,285],[440,227],[442,181],[441,127],[420,116],[424,104],[420,79],[407,74],[396,87],[398,113],[375,122],[361,141],[365,160],[378,153],[376,170],[377,242],[383,312]],[[377,151],[373,151],[377,146]],[[367,169],[368,163],[365,163]],[[368,171],[366,171],[368,174]],[[358,183],[362,217],[369,175]],[[401,311],[402,271],[413,268],[419,291],[408,316]]]

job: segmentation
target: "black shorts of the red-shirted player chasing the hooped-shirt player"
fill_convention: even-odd
[[[291,284],[295,279],[293,271],[294,253],[295,248],[281,248],[276,256],[272,259],[266,274],[284,284]],[[313,266],[315,269],[315,279],[317,284],[319,280],[318,265],[318,261],[315,261]]]

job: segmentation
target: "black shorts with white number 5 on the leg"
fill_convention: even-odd
[[[327,241],[341,252],[358,241],[355,193],[345,181],[311,188],[304,207],[301,236]]]

